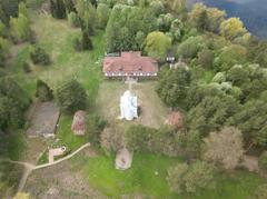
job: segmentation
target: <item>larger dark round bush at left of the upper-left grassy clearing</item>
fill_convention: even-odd
[[[30,53],[30,58],[34,64],[48,66],[51,63],[50,56],[41,47],[36,46]]]

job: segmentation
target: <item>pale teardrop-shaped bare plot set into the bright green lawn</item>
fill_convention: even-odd
[[[127,148],[122,148],[117,152],[115,160],[115,168],[119,170],[126,170],[131,167],[132,162],[132,152]]]

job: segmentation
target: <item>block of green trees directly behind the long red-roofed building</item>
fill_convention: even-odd
[[[108,52],[140,50],[146,36],[154,30],[156,17],[150,9],[117,4],[106,28],[106,49]]]

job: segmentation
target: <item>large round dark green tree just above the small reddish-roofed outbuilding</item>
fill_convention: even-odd
[[[86,110],[87,100],[86,89],[75,79],[67,80],[57,89],[57,102],[65,112]]]

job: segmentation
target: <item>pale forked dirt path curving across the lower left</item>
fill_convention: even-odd
[[[83,150],[85,148],[87,147],[90,147],[90,142],[88,143],[85,143],[83,146],[81,146],[79,149],[77,149],[75,152],[59,159],[59,160],[56,160],[53,162],[50,162],[50,163],[43,163],[43,165],[40,165],[40,166],[34,166],[32,163],[29,163],[29,162],[23,162],[23,161],[13,161],[13,160],[9,160],[9,159],[2,159],[0,161],[7,161],[7,162],[10,162],[10,163],[17,163],[17,165],[21,165],[24,167],[24,171],[23,171],[23,175],[20,179],[20,182],[19,182],[19,186],[18,186],[18,191],[17,192],[20,192],[23,190],[23,187],[26,185],[26,181],[29,177],[29,175],[33,171],[33,170],[38,170],[38,169],[42,169],[42,168],[47,168],[47,167],[50,167],[50,166],[55,166],[55,165],[58,165],[65,160],[68,160],[70,158],[72,158],[75,155],[77,155],[78,152],[80,152],[81,150]]]

